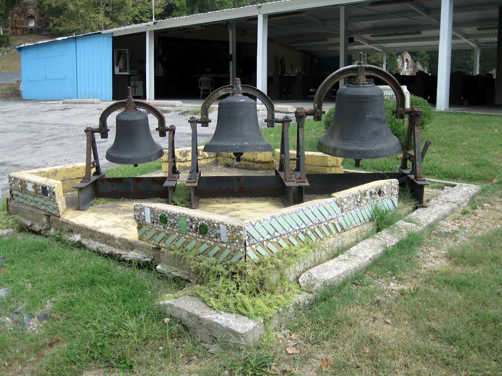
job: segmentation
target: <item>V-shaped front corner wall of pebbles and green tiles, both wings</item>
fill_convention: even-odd
[[[140,240],[249,261],[288,246],[325,241],[367,223],[377,205],[395,210],[398,192],[396,179],[379,180],[245,222],[165,204],[136,204],[134,216]]]

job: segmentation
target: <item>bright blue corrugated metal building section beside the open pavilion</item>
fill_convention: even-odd
[[[17,48],[24,99],[112,99],[112,34],[58,38]]]

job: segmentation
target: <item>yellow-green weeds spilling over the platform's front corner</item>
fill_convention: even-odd
[[[217,311],[269,320],[300,292],[287,278],[286,270],[312,247],[314,244],[285,248],[257,262],[213,259],[186,250],[174,254],[200,276],[190,293]]]

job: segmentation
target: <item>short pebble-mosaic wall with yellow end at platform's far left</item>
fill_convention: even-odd
[[[61,217],[66,211],[61,181],[33,175],[30,171],[9,174],[11,200]]]

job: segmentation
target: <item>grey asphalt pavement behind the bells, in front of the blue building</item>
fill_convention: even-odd
[[[85,161],[85,132],[88,126],[97,127],[101,112],[111,102],[99,104],[63,104],[61,101],[0,101],[0,194],[9,193],[8,174],[33,168],[51,167],[61,164]],[[160,107],[166,117],[166,124],[176,125],[175,147],[191,145],[191,129],[188,110],[199,109],[195,105],[181,107]],[[106,150],[115,138],[115,112],[108,116],[107,139],[96,134],[99,160],[102,167],[112,166],[105,159]],[[217,119],[217,107],[209,114],[209,127],[197,126],[198,143],[211,139]],[[291,115],[291,114],[290,114]],[[197,115],[196,115],[197,116]],[[259,111],[259,119],[266,117],[266,111]],[[198,115],[197,117],[200,117]],[[154,140],[168,147],[168,138],[159,137],[155,131],[157,118],[149,115],[150,129]],[[266,127],[260,121],[261,127]]]

